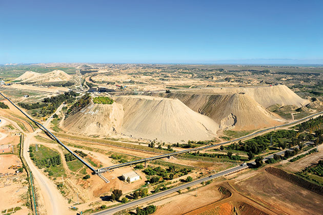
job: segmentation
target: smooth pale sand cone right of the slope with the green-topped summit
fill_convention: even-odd
[[[114,100],[125,110],[122,132],[136,138],[165,142],[208,140],[218,129],[210,118],[177,99],[120,96]]]

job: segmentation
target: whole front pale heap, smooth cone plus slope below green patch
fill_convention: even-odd
[[[85,135],[122,134],[133,138],[180,142],[215,138],[219,125],[177,99],[113,97],[112,105],[90,103],[63,123],[64,130]]]

